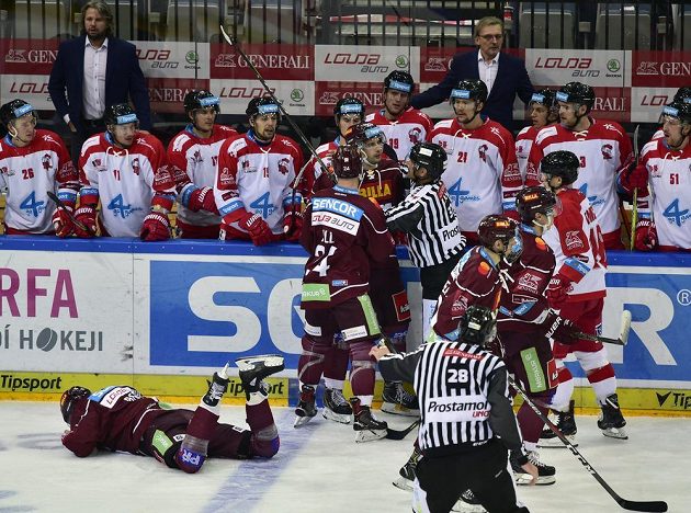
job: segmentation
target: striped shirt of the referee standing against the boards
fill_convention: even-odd
[[[390,231],[408,233],[408,253],[418,267],[439,265],[463,251],[456,209],[441,180],[416,185],[410,194],[386,212]]]

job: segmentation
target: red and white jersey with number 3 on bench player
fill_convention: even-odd
[[[619,197],[616,174],[633,162],[631,139],[619,123],[591,121],[584,132],[573,132],[562,125],[550,125],[537,133],[530,152],[530,176],[540,178],[540,161],[557,150],[571,151],[580,160],[578,189],[594,208],[605,240],[620,238]],[[526,182],[526,185],[536,185]]]

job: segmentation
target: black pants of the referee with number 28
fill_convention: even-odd
[[[498,440],[467,453],[422,457],[416,476],[428,509],[421,511],[449,513],[461,493],[471,489],[489,513],[528,513],[528,508],[517,504],[508,459],[509,452]]]

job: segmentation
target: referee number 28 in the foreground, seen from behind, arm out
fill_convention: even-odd
[[[518,502],[508,451],[529,461],[511,409],[503,362],[485,346],[496,337],[496,319],[486,307],[472,305],[458,324],[458,342],[430,342],[412,353],[390,354],[375,346],[384,379],[412,381],[422,417],[418,444],[414,511],[446,513],[469,489],[490,513],[528,512]]]

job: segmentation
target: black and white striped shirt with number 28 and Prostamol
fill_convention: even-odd
[[[430,342],[380,360],[385,380],[410,380],[420,401],[418,433],[426,456],[471,451],[499,435],[511,451],[522,440],[503,362],[477,345]]]

